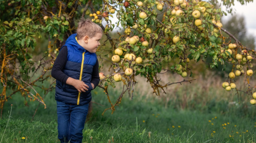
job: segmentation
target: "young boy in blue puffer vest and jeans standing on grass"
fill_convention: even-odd
[[[82,143],[91,90],[100,81],[95,52],[102,33],[99,25],[82,18],[77,34],[67,39],[52,67],[51,76],[56,79],[58,138],[61,143]]]

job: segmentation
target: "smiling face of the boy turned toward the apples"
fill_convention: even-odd
[[[100,46],[100,39],[102,38],[101,33],[97,33],[94,37],[89,37],[87,39],[87,44],[85,49],[90,53],[96,53],[97,47]]]

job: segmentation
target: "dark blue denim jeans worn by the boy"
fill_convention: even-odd
[[[89,104],[74,105],[57,101],[58,138],[61,143],[82,143]]]

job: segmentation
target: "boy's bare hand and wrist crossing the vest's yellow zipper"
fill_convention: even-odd
[[[66,81],[67,84],[74,86],[78,92],[85,92],[88,91],[89,86],[87,84],[84,84],[83,81],[80,81],[78,79],[73,79],[69,77]]]

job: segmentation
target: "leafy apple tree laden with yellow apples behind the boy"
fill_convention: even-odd
[[[223,5],[229,7],[233,2],[223,0]],[[54,59],[65,39],[75,33],[80,17],[91,18],[99,24],[106,37],[97,49],[98,59],[108,61],[112,69],[108,75],[104,71],[99,73],[98,86],[111,105],[105,111],[111,109],[113,113],[125,93],[133,97],[133,87],[138,82],[136,76],[145,77],[154,94],[160,95],[172,84],[191,82],[190,61],[198,62],[206,57],[212,58],[211,68],[224,63],[233,65],[222,85],[227,91],[233,89],[238,94],[235,79],[246,76],[248,89],[245,92],[251,96],[251,104],[255,104],[255,89],[249,81],[256,52],[244,47],[222,28],[220,18],[225,12],[214,4],[215,1],[197,0],[1,1],[0,107],[3,109],[8,98],[20,92],[25,99],[37,100],[46,108],[44,97],[37,90],[43,89],[46,95],[54,88],[53,82],[47,87],[40,83],[50,78]],[[117,19],[117,24],[110,17]],[[118,26],[123,27],[124,32],[117,32],[118,38],[111,37],[110,33]],[[31,55],[36,41],[41,38],[48,41],[48,46],[40,59],[36,59]],[[184,80],[162,85],[160,72],[177,73]],[[123,82],[123,90],[113,102],[108,87],[115,87],[118,81]]]

